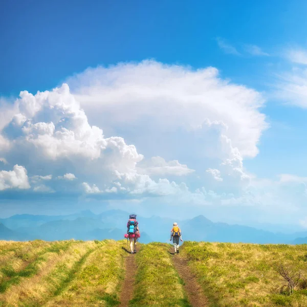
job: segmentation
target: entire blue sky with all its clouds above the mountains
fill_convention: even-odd
[[[307,228],[305,1],[0,4],[0,215]]]

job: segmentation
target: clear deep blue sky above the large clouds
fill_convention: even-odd
[[[50,89],[97,64],[146,58],[195,68],[212,65],[236,82],[263,87],[264,64],[278,59],[264,63],[248,55],[225,56],[216,37],[273,54],[288,44],[306,43],[304,1],[17,1],[1,6],[3,95]]]

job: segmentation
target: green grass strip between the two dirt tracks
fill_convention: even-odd
[[[129,307],[190,307],[168,253],[170,245],[150,243],[136,254],[138,271]]]

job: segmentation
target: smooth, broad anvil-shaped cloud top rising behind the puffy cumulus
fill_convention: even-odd
[[[135,144],[147,141],[150,148],[165,145],[165,138],[182,129],[198,133],[207,122],[220,122],[242,157],[255,157],[267,127],[259,112],[261,95],[221,79],[215,68],[192,70],[146,60],[88,69],[68,83],[91,122],[103,123],[110,134],[127,131]]]

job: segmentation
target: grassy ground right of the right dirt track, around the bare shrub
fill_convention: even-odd
[[[307,282],[293,295],[276,265],[302,269],[307,278],[307,245],[256,245],[185,242],[183,254],[198,276],[211,307],[307,306]]]

